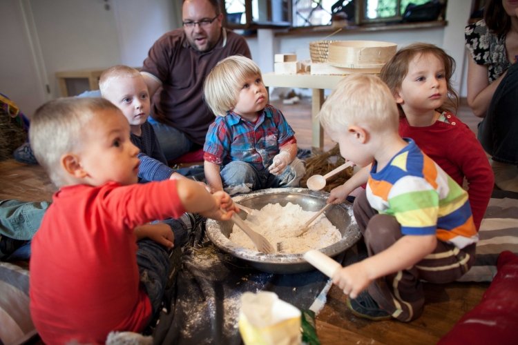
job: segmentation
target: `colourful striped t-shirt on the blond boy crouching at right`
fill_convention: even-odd
[[[459,248],[477,242],[468,193],[412,139],[382,170],[372,164],[367,199],[378,213],[393,215],[404,235],[432,235]]]

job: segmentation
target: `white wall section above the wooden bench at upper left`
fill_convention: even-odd
[[[103,0],[30,0],[54,97],[55,72],[120,63],[115,16],[104,6]]]

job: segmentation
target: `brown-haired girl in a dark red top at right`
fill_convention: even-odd
[[[441,48],[414,43],[399,50],[380,77],[399,106],[399,135],[412,138],[457,184],[466,179],[478,229],[495,177],[477,137],[452,112],[458,103],[451,84],[454,69],[454,59]]]

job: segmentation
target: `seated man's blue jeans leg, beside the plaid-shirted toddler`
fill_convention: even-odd
[[[191,141],[184,132],[180,132],[180,130],[177,130],[176,128],[162,124],[152,117],[148,118],[148,122],[153,126],[155,135],[160,143],[160,148],[162,148],[168,161],[184,155],[193,148],[195,143],[193,143],[193,141]]]

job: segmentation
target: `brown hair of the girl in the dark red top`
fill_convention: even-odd
[[[459,95],[457,95],[457,92],[452,88],[451,81],[453,72],[455,71],[455,60],[446,54],[444,50],[433,44],[413,43],[410,44],[410,46],[401,48],[396,52],[396,55],[381,68],[381,80],[385,81],[392,91],[392,94],[395,94],[401,88],[403,79],[405,79],[408,73],[410,61],[412,61],[414,57],[428,54],[434,55],[437,59],[443,61],[446,87],[448,88],[448,99],[443,103],[443,106],[437,110],[440,112],[444,110],[457,112],[457,108],[459,108]],[[404,117],[403,109],[400,105],[398,105],[398,108],[401,117]]]

